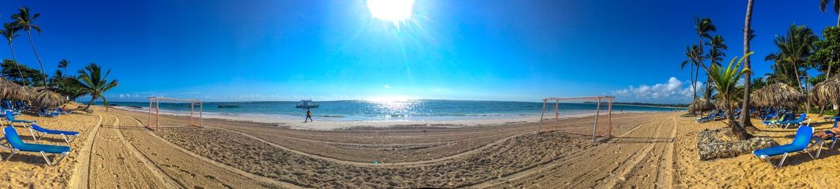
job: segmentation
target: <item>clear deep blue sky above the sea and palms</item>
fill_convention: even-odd
[[[24,1],[41,13],[33,39],[47,72],[88,62],[113,68],[110,101],[148,96],[207,101],[380,97],[538,101],[616,95],[620,102],[688,102],[692,19],[709,17],[743,50],[746,0],[417,0],[395,27],[349,1]],[[775,34],[836,24],[818,0],[756,2],[753,71],[769,71]],[[37,67],[24,34],[13,42]],[[0,58],[8,58],[0,46]],[[702,79],[701,79],[702,81]]]

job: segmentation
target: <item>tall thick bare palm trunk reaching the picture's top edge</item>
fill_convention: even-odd
[[[749,53],[749,31],[751,28],[750,24],[753,19],[753,0],[747,1],[747,15],[743,19],[743,55],[747,55]],[[750,69],[749,65],[749,56],[743,57],[743,65],[744,68]],[[829,68],[830,69],[830,68]],[[749,120],[749,82],[752,78],[752,71],[748,71],[743,75],[743,106],[741,106],[741,126],[743,127],[753,127],[753,122]]]

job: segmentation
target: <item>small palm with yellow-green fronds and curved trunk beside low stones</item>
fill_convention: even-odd
[[[747,57],[749,55],[753,55],[753,53],[748,53],[744,55]],[[750,70],[746,67],[742,68],[743,57],[738,60],[736,63],[736,59],[738,57],[732,58],[732,61],[729,62],[729,66],[722,67],[717,65],[711,65],[709,68],[709,78],[711,81],[714,81],[714,87],[717,89],[717,100],[723,101],[724,104],[727,104],[727,118],[729,119],[729,127],[732,129],[732,134],[735,134],[738,139],[749,139],[752,137],[751,134],[747,133],[746,129],[738,123],[735,122],[734,118],[732,118],[732,101],[738,98],[738,89],[736,85],[738,84],[738,80],[741,79],[743,74],[748,73]]]

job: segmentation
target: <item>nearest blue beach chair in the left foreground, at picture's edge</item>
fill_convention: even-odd
[[[67,155],[70,155],[70,146],[24,143],[24,141],[20,139],[18,131],[14,130],[12,126],[3,128],[3,135],[6,137],[6,142],[8,143],[8,146],[3,146],[3,148],[12,150],[12,154],[8,155],[4,161],[12,159],[13,155],[20,152],[35,152],[44,157],[44,160],[47,161],[47,165],[53,166],[57,165],[61,160],[64,160]],[[50,159],[47,158],[47,153],[59,156],[50,161]]]

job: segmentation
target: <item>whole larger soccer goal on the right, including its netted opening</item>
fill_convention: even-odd
[[[586,135],[592,136],[593,142],[599,138],[610,138],[612,137],[612,102],[615,98],[609,96],[543,98],[543,111],[540,113],[537,134],[554,131]],[[552,112],[553,116],[549,114]],[[574,115],[562,115],[562,113]]]

